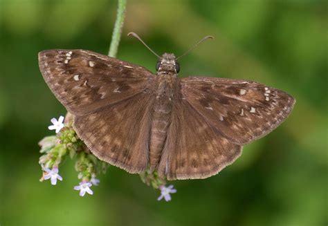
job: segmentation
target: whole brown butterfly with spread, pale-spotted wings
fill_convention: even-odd
[[[257,82],[179,78],[173,54],[158,58],[153,74],[88,50],[44,50],[39,68],[95,156],[129,173],[156,169],[168,180],[215,175],[295,104]]]

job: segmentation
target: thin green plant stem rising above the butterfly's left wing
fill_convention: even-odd
[[[125,9],[127,7],[127,0],[118,0],[118,11],[116,21],[111,36],[111,46],[109,47],[109,57],[116,57],[118,53],[118,44],[120,44],[120,37],[122,35],[122,28],[125,19]]]

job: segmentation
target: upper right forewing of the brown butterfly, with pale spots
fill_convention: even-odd
[[[283,91],[237,79],[186,77],[181,93],[208,124],[239,145],[270,133],[295,104]]]

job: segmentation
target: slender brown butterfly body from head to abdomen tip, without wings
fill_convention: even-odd
[[[163,55],[156,75],[156,100],[149,143],[151,169],[155,169],[158,165],[167,138],[167,129],[170,126],[174,90],[178,79],[174,55],[167,53]]]

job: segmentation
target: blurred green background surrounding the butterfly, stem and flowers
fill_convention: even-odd
[[[0,225],[327,225],[327,1],[128,1],[118,58],[154,71],[181,55],[180,76],[250,79],[297,100],[291,116],[246,145],[206,180],[174,181],[170,203],[136,175],[110,167],[94,195],[78,196],[73,161],[57,186],[39,182],[37,142],[65,114],[37,53],[83,48],[107,54],[116,1],[0,0]]]

